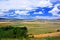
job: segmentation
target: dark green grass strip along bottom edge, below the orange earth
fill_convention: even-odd
[[[21,40],[20,38],[3,38],[1,40]],[[23,39],[26,40],[26,39]],[[28,40],[60,40],[60,36],[54,36],[54,37],[45,37],[45,38],[29,38]]]

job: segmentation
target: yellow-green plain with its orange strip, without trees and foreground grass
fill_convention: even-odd
[[[60,35],[60,32],[57,32],[57,29],[60,29],[60,22],[0,22],[0,27],[7,25],[14,27],[26,26],[28,34],[33,34],[35,38]]]

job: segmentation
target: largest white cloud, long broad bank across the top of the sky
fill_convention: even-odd
[[[27,9],[31,10],[32,7],[46,7],[52,6],[49,0],[9,0],[0,2],[1,9]]]

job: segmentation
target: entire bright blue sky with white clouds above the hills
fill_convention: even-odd
[[[0,0],[0,18],[59,19],[60,0]]]

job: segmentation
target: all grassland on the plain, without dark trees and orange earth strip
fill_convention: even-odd
[[[60,29],[60,22],[11,22],[11,23],[0,23],[1,26],[11,25],[14,27],[26,26],[28,28],[29,34],[44,34],[50,32],[56,32],[57,29]],[[46,37],[46,38],[30,38],[30,40],[59,40],[60,36],[56,37]],[[1,39],[5,40],[5,39]],[[9,38],[7,38],[9,40]],[[20,39],[10,39],[10,40],[20,40]],[[25,39],[24,39],[25,40]]]

